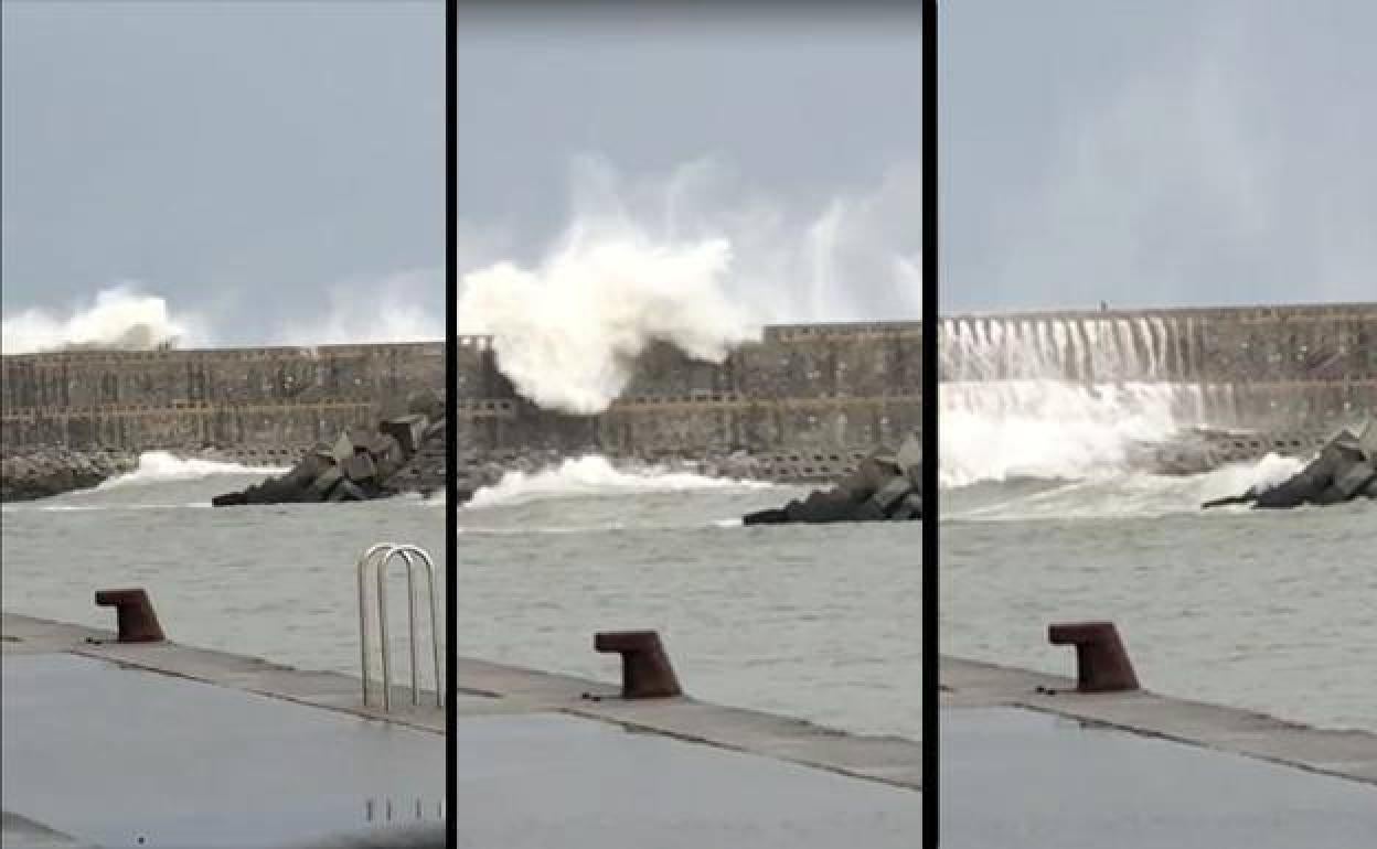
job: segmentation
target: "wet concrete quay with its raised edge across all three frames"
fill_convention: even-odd
[[[7,848],[443,845],[434,702],[398,688],[384,717],[348,676],[3,632]],[[957,659],[942,678],[943,846],[1377,834],[1377,735]],[[460,846],[918,845],[917,742],[471,659],[459,687]]]

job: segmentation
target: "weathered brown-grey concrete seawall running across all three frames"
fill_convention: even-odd
[[[460,340],[456,436],[657,458],[749,451],[817,476],[920,425],[921,325],[772,326],[724,363],[647,351],[599,416],[534,407],[486,337]],[[1221,427],[1314,429],[1377,410],[1377,303],[1029,312],[942,322],[953,381],[1062,377],[1183,387]],[[297,451],[445,385],[442,343],[4,356],[0,449]]]

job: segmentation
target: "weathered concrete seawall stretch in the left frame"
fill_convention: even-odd
[[[3,358],[0,446],[303,446],[442,387],[442,343]]]

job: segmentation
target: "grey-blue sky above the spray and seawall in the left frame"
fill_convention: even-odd
[[[6,315],[118,279],[222,343],[357,325],[381,279],[443,315],[438,0],[6,0],[3,23]]]

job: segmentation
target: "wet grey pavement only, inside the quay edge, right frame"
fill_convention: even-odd
[[[1374,845],[1377,787],[1013,707],[942,717],[943,848]]]

